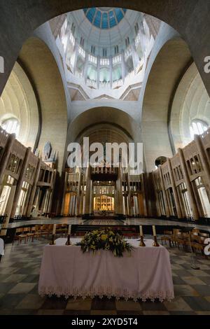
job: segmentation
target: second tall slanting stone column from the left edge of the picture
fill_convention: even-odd
[[[21,191],[21,188],[22,188],[22,183],[24,182],[27,167],[29,165],[29,155],[30,155],[30,153],[31,153],[31,148],[27,148],[27,151],[25,153],[25,158],[24,158],[24,161],[23,161],[23,164],[22,164],[20,176],[19,176],[18,183],[17,183],[17,188],[16,188],[15,197],[14,197],[14,201],[13,201],[13,208],[12,208],[12,211],[11,211],[11,218],[14,218],[14,216],[15,216],[15,211],[16,211],[16,208],[17,208],[17,205],[18,205],[18,200],[19,200],[19,197],[20,197],[20,191]]]

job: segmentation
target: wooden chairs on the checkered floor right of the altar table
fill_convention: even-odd
[[[190,247],[195,254],[200,251],[204,255],[204,248],[207,246],[204,241],[207,238],[209,238],[209,233],[200,232],[198,229],[193,229],[190,232],[173,229],[172,231],[164,231],[164,236],[160,239],[162,244],[167,244],[168,241],[170,247],[180,248],[182,246],[184,249]]]

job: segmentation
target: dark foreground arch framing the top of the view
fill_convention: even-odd
[[[210,92],[210,79],[208,74],[204,72],[204,57],[210,53],[210,3],[202,0],[173,2],[171,0],[142,0],[132,3],[129,0],[82,0],[79,3],[73,0],[59,2],[57,0],[23,0],[15,3],[15,6],[12,0],[1,1],[0,22],[1,30],[4,33],[0,38],[0,45],[1,56],[5,60],[5,73],[0,77],[0,91],[2,92],[6,84],[22,43],[36,27],[57,15],[88,6],[118,6],[139,10],[167,22],[179,31],[188,43],[207,91]],[[13,22],[12,25],[10,24],[11,21]],[[200,42],[198,43],[197,40]]]

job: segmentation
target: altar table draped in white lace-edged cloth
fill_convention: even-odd
[[[145,240],[145,247],[137,239],[129,239],[134,246],[131,254],[122,258],[110,251],[83,253],[71,239],[59,238],[54,246],[43,249],[38,283],[40,295],[60,297],[123,297],[125,300],[172,300],[174,286],[169,252],[164,246],[153,246],[153,240]]]

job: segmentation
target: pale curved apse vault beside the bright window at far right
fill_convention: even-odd
[[[195,63],[183,75],[172,104],[170,127],[176,151],[192,141],[193,120],[210,125],[210,99]]]

